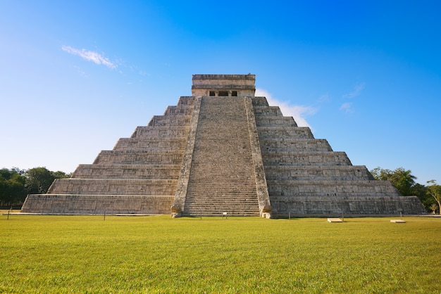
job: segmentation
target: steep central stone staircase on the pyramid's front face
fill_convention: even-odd
[[[202,99],[184,215],[259,216],[244,99]]]

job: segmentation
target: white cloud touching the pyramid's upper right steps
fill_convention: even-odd
[[[313,115],[317,112],[316,108],[311,106],[293,106],[286,101],[278,101],[278,99],[273,98],[271,94],[263,89],[256,89],[255,96],[264,96],[266,100],[268,100],[268,104],[271,106],[279,106],[283,115],[292,116],[294,120],[297,122],[299,127],[310,127],[308,122],[306,122],[306,115]]]

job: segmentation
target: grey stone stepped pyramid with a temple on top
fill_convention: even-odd
[[[255,75],[193,75],[192,96],[27,196],[22,212],[285,217],[424,214],[254,96]]]

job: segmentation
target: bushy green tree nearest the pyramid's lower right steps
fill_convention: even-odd
[[[411,195],[411,188],[414,186],[416,179],[416,177],[411,174],[411,170],[404,170],[403,167],[398,167],[393,171],[376,167],[371,170],[371,174],[377,180],[391,181],[392,185],[404,196]]]

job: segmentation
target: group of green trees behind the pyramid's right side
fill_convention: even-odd
[[[418,184],[411,170],[405,170],[403,167],[395,170],[376,167],[371,170],[371,174],[376,180],[391,181],[403,196],[417,196],[428,212],[441,215],[441,185],[435,180],[427,181],[427,186]]]

